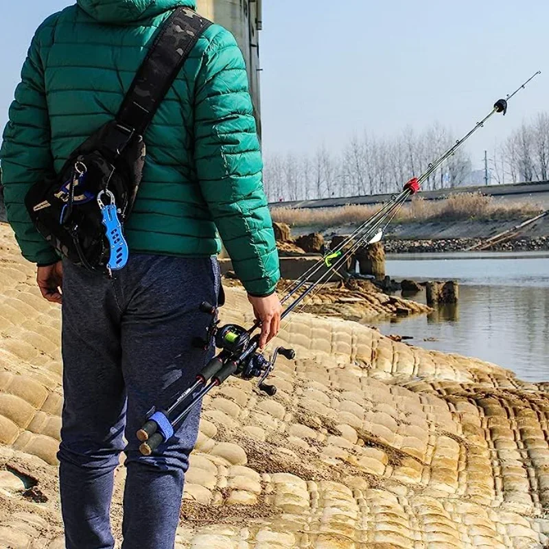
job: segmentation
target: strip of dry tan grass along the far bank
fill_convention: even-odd
[[[342,206],[338,208],[291,209],[273,208],[272,219],[290,226],[323,228],[362,223],[379,209],[378,206]],[[451,194],[443,200],[414,198],[404,206],[395,223],[414,221],[517,220],[534,217],[543,209],[530,202],[502,202],[481,193]]]

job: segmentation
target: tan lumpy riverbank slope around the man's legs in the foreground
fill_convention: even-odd
[[[0,250],[0,547],[62,549],[60,311],[5,226]],[[227,297],[222,321],[250,323]],[[546,548],[546,384],[337,318],[279,341],[274,398],[231,378],[204,401],[176,549]]]

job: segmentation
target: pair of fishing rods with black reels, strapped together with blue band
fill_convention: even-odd
[[[281,300],[283,304],[290,302],[283,311],[281,318],[286,318],[299,305],[304,306],[305,299],[315,290],[318,292],[323,288],[331,275],[337,272],[352,257],[355,250],[365,244],[373,244],[382,240],[388,225],[408,198],[417,194],[421,189],[421,185],[436,172],[441,164],[454,155],[456,150],[476,131],[484,127],[484,124],[495,113],[505,115],[509,100],[539,74],[541,74],[541,71],[537,71],[528,78],[516,91],[507,95],[506,99],[495,102],[490,113],[480,122],[477,122],[474,128],[462,139],[458,139],[439,159],[430,163],[423,174],[410,179],[399,194],[391,196],[371,218],[360,224],[336,248],[327,251],[314,266],[294,281],[285,291],[286,293]],[[323,272],[320,272],[321,270]],[[313,280],[314,277],[316,277],[316,280]],[[171,439],[176,429],[185,421],[190,412],[200,404],[202,398],[232,375],[246,380],[259,378],[259,390],[273,397],[277,393],[277,388],[267,384],[266,381],[274,369],[277,358],[279,355],[283,355],[288,360],[295,358],[293,349],[284,349],[283,347],[274,349],[270,360],[264,357],[264,351],[259,348],[259,334],[256,333],[257,329],[261,327],[259,321],[256,321],[248,329],[237,324],[220,327],[218,307],[209,303],[202,303],[200,311],[211,316],[207,338],[201,342],[200,346],[207,351],[213,343],[216,348],[220,349],[220,353],[208,362],[205,368],[196,376],[194,384],[178,396],[170,406],[166,408],[156,408],[155,406],[147,414],[143,426],[137,431],[137,438],[141,441],[139,450],[145,456],[152,454],[161,444]]]

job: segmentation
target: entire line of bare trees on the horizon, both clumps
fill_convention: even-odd
[[[364,132],[342,150],[320,147],[314,154],[273,154],[265,159],[265,188],[272,202],[331,196],[364,196],[398,191],[456,143],[448,128],[434,124],[424,132],[408,128],[396,137]],[[492,184],[549,179],[549,114],[524,122],[489,155]],[[423,185],[424,190],[478,185],[471,156],[459,149]]]

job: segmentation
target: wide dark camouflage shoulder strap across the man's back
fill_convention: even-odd
[[[117,115],[117,122],[143,135],[167,91],[211,21],[189,8],[177,8],[163,23],[135,76]]]

